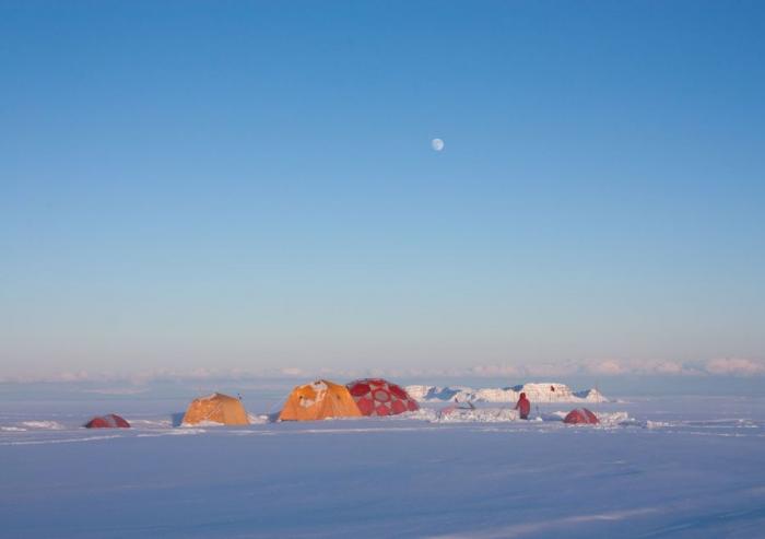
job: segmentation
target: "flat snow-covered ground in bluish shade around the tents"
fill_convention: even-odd
[[[243,396],[258,424],[174,426],[193,395],[3,399],[0,537],[765,536],[763,398],[593,403],[593,427],[557,402],[271,423]],[[134,427],[79,426],[113,411]]]

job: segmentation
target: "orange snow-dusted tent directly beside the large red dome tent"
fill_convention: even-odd
[[[362,412],[345,386],[325,379],[295,387],[279,414],[280,421],[357,418]]]

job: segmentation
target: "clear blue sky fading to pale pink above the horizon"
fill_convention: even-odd
[[[0,378],[761,375],[763,35],[756,1],[0,0]]]

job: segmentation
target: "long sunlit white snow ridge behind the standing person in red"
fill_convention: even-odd
[[[473,389],[466,386],[407,386],[407,392],[421,402],[515,402],[521,392],[531,402],[608,402],[597,389],[574,392],[565,384],[523,384],[503,388]]]

